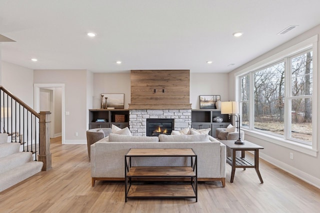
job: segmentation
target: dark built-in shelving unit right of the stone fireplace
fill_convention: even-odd
[[[213,122],[214,117],[221,117],[223,121],[221,123]],[[221,114],[220,110],[203,110],[193,109],[191,110],[191,128],[194,129],[208,129],[211,131],[209,135],[216,138],[215,129],[226,128],[231,123],[231,118],[227,114]]]

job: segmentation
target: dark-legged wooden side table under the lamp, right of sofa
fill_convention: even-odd
[[[259,149],[264,149],[263,147],[248,141],[244,141],[243,145],[234,144],[234,140],[219,141],[232,150],[232,156],[226,158],[226,163],[232,167],[230,183],[233,183],[235,168],[243,168],[244,170],[245,168],[254,168],[261,184],[263,184],[259,172]],[[235,151],[241,151],[241,157],[235,157]],[[254,163],[245,158],[245,151],[254,151]]]

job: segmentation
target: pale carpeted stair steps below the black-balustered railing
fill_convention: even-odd
[[[43,163],[32,161],[32,152],[19,152],[20,143],[7,143],[0,133],[0,192],[41,171]]]

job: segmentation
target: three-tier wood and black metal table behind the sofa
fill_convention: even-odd
[[[187,157],[189,166],[132,166],[135,157]],[[194,198],[197,202],[197,155],[192,149],[130,149],[124,156],[125,202],[128,198]],[[132,179],[165,181],[167,178],[187,178],[183,184],[133,184]],[[145,181],[145,180],[144,180]]]

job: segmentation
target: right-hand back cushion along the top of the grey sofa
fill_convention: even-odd
[[[205,142],[207,135],[159,135],[159,142]]]

